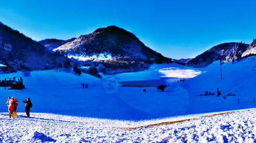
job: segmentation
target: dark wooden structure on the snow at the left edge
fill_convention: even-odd
[[[11,87],[11,89],[24,89],[22,77],[5,78],[0,80],[0,86]]]

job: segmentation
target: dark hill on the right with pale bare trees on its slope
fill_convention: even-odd
[[[248,49],[249,45],[245,43],[230,42],[222,43],[211,47],[211,49],[198,55],[196,58],[187,62],[188,66],[205,67],[216,60],[224,62],[240,59],[242,54]]]

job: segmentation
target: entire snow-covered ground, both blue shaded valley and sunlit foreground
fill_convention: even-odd
[[[0,87],[0,142],[44,141],[42,138],[57,142],[255,142],[255,109],[204,117],[200,114],[256,106],[255,57],[223,64],[223,79],[219,63],[200,69],[155,64],[148,70],[102,80],[62,70],[32,71],[30,77],[22,72],[0,74],[0,79],[22,76],[26,86],[23,90]],[[118,83],[158,80],[168,85],[164,92],[156,87],[122,87]],[[83,89],[83,82],[89,88]],[[206,90],[215,94],[200,96]],[[15,119],[8,117],[4,104],[9,96],[19,101]],[[33,103],[30,118],[25,117],[22,102],[28,97]],[[168,124],[181,120],[186,121]],[[147,126],[159,123],[163,125]],[[10,125],[16,126],[7,129]]]

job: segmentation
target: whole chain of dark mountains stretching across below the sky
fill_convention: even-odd
[[[221,43],[193,59],[175,60],[162,56],[147,47],[133,33],[116,26],[98,28],[78,38],[44,39],[37,42],[0,22],[0,52],[0,62],[11,67],[13,71],[62,67],[63,60],[67,60],[62,55],[89,61],[81,62],[80,65],[103,64],[110,69],[146,69],[153,63],[169,62],[205,67],[219,59],[226,62],[255,55],[256,39],[250,45],[242,42]]]

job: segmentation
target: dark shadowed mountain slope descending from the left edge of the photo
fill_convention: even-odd
[[[7,65],[8,71],[56,68],[66,60],[0,22],[0,63]]]

